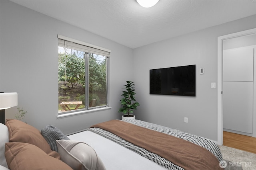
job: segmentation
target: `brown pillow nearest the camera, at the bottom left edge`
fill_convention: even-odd
[[[72,170],[61,160],[28,143],[6,143],[5,157],[11,170]]]

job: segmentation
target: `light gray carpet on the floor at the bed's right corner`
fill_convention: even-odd
[[[256,154],[226,146],[219,148],[227,162],[225,170],[256,170]]]

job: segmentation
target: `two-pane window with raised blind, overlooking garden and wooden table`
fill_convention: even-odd
[[[110,50],[58,35],[59,115],[108,106]]]

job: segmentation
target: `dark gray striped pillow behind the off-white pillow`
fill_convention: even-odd
[[[60,129],[52,125],[48,125],[44,127],[41,130],[41,134],[43,135],[44,139],[46,139],[46,141],[49,143],[51,149],[56,152],[58,152],[56,140],[61,140],[61,139],[69,140],[69,138],[66,135],[64,135],[62,131],[60,131]]]

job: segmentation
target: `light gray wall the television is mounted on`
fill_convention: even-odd
[[[255,21],[256,15],[134,49],[137,118],[217,141],[218,87],[211,88],[217,85],[217,37],[255,28]],[[190,64],[196,64],[196,97],[149,94],[150,69]]]

